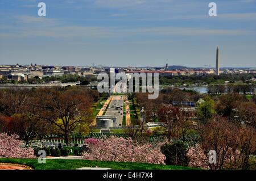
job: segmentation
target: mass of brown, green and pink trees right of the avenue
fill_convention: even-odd
[[[251,155],[256,154],[255,95],[248,99],[236,92],[207,95],[164,89],[158,99],[147,99],[146,93],[133,96],[146,111],[146,122],[164,124],[168,141],[162,152],[168,164],[206,169],[250,168]],[[172,101],[193,101],[196,106],[173,106]],[[188,144],[191,134],[198,136],[196,145]],[[216,151],[214,164],[208,162],[209,150]]]

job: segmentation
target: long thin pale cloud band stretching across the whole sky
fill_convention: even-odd
[[[158,27],[158,28],[130,28],[121,29],[113,27],[79,27],[63,26],[49,28],[20,29],[14,33],[2,33],[1,37],[92,37],[92,38],[115,38],[133,36],[237,36],[250,35],[254,31],[248,30],[221,30],[204,28],[183,27]]]

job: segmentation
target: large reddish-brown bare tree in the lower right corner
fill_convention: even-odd
[[[201,143],[205,157],[208,151],[216,151],[216,164],[205,164],[210,169],[248,169],[249,157],[256,150],[256,132],[224,117],[216,116],[213,121],[200,128]],[[206,161],[204,158],[202,161]]]

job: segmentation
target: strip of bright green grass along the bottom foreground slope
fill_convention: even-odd
[[[147,163],[125,163],[89,161],[83,159],[47,159],[46,164],[39,164],[38,159],[0,158],[0,163],[27,165],[35,170],[75,170],[81,167],[104,167],[113,170],[192,170],[195,168]]]

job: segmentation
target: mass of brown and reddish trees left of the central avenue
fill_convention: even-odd
[[[27,143],[60,134],[69,144],[72,131],[89,131],[98,92],[82,87],[0,90],[0,132],[16,133]]]

